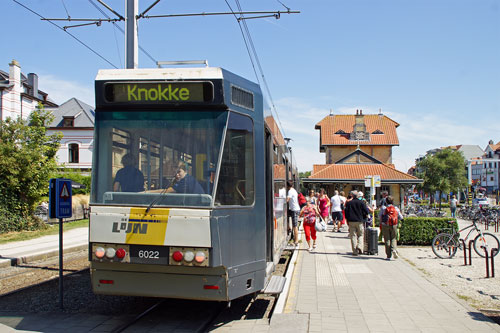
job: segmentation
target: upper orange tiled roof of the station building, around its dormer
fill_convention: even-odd
[[[370,133],[369,141],[359,141],[360,145],[391,145],[398,146],[397,122],[384,115],[365,114],[364,123],[366,131]],[[335,134],[342,130],[349,134],[353,131],[355,115],[329,115],[316,124],[320,130],[321,145],[357,145],[355,140],[349,140],[349,135]],[[380,130],[383,134],[372,134]]]

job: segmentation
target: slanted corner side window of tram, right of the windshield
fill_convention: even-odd
[[[249,206],[254,202],[253,123],[231,113],[228,122],[216,204]]]

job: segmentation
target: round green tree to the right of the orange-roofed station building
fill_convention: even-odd
[[[426,156],[417,165],[420,171],[418,177],[424,180],[422,189],[429,194],[439,192],[440,198],[443,193],[450,191],[457,193],[467,186],[466,163],[461,152],[451,149]],[[431,195],[431,200],[432,198]],[[439,208],[441,209],[441,200]]]

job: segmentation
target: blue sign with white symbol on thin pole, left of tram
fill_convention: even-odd
[[[59,219],[59,305],[63,306],[63,218],[71,217],[71,180],[52,178],[49,183],[49,217]]]

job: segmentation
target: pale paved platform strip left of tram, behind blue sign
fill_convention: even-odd
[[[63,253],[86,249],[88,228],[76,228],[63,233]],[[43,236],[26,241],[0,244],[0,268],[15,263],[29,263],[59,254],[59,235]]]

